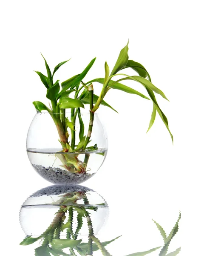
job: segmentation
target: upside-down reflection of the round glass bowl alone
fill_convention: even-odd
[[[26,236],[65,239],[71,233],[75,239],[87,238],[87,215],[97,234],[109,215],[108,204],[101,195],[85,186],[53,185],[26,199],[20,210],[20,224]]]

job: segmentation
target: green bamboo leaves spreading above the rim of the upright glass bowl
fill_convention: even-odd
[[[44,58],[44,57],[43,57]],[[167,130],[170,133],[171,139],[173,140],[173,135],[170,132],[167,117],[159,107],[159,104],[156,100],[155,93],[162,96],[164,99],[167,99],[165,94],[157,88],[155,85],[152,84],[150,75],[145,69],[145,67],[140,64],[139,62],[129,60],[128,56],[128,43],[127,45],[120,51],[119,57],[117,58],[116,64],[114,65],[112,71],[110,72],[109,66],[107,62],[105,62],[105,76],[104,78],[96,78],[92,79],[88,82],[83,82],[85,79],[85,76],[93,66],[96,58],[92,59],[90,63],[85,67],[85,69],[82,71],[82,73],[79,73],[77,75],[72,76],[71,78],[63,81],[61,84],[59,84],[59,80],[53,81],[54,74],[57,72],[57,70],[65,64],[67,61],[63,61],[59,63],[56,67],[54,67],[54,71],[51,72],[47,61],[44,58],[45,61],[45,67],[47,71],[47,76],[42,74],[39,71],[36,71],[36,73],[39,75],[40,80],[45,85],[47,91],[46,91],[46,97],[51,101],[52,108],[48,108],[45,104],[39,101],[33,102],[35,108],[37,111],[48,111],[49,113],[60,113],[60,111],[63,109],[77,109],[77,112],[80,113],[80,108],[85,108],[85,104],[90,104],[90,96],[89,96],[89,90],[88,88],[91,86],[92,83],[100,83],[102,84],[102,90],[98,95],[94,94],[93,97],[93,109],[92,111],[95,112],[100,105],[104,105],[108,108],[111,108],[113,111],[116,111],[111,105],[109,105],[107,102],[104,101],[105,95],[108,93],[109,90],[115,89],[115,90],[121,90],[125,93],[134,94],[137,96],[140,96],[144,99],[152,101],[153,104],[153,111],[150,118],[150,123],[147,131],[150,130],[152,127],[156,113],[159,114],[160,118],[164,122],[164,125],[166,126]],[[69,61],[69,60],[68,60]],[[122,70],[125,69],[133,69],[137,75],[136,76],[129,76],[125,73],[122,73]],[[123,78],[120,78],[118,80],[114,80],[117,76],[123,76]],[[146,92],[147,96],[140,93],[139,90],[134,90],[131,87],[126,86],[125,84],[122,84],[121,81],[126,80],[132,80],[136,83],[141,84]],[[71,97],[70,94],[75,93],[74,97]],[[116,111],[117,112],[117,111]],[[80,116],[80,115],[78,115]],[[81,122],[81,120],[79,120]],[[68,125],[69,128],[71,128],[71,125],[68,121],[66,122],[66,125]],[[82,123],[82,122],[81,122]],[[65,123],[63,123],[64,129],[65,129]],[[82,127],[82,125],[81,125]],[[72,130],[74,127],[72,127]],[[83,129],[83,128],[82,128]],[[80,140],[82,139],[82,131],[79,135]]]

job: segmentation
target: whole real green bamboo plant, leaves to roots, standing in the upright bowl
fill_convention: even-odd
[[[94,64],[95,58],[88,64],[85,70],[82,73],[71,77],[70,79],[63,81],[61,86],[59,84],[59,80],[56,82],[53,81],[55,72],[61,67],[65,62],[63,61],[59,63],[55,68],[54,72],[51,73],[51,70],[45,60],[45,66],[47,70],[47,76],[37,71],[37,74],[40,76],[42,83],[47,88],[46,97],[51,100],[51,109],[46,107],[42,102],[35,101],[33,102],[37,111],[48,111],[51,114],[51,117],[54,120],[54,123],[57,127],[57,131],[59,134],[59,141],[62,145],[63,153],[74,153],[74,154],[58,154],[58,157],[63,163],[65,169],[74,173],[84,173],[86,172],[86,167],[89,159],[88,151],[96,151],[97,145],[94,147],[88,147],[91,139],[91,133],[93,129],[94,123],[94,113],[100,107],[100,105],[108,106],[113,109],[107,102],[104,101],[105,95],[108,93],[110,89],[122,90],[126,93],[135,94],[141,96],[144,99],[151,100],[153,102],[153,112],[150,119],[149,129],[153,125],[155,120],[156,111],[159,113],[164,125],[170,133],[170,129],[168,127],[167,117],[161,111],[159,107],[155,93],[161,95],[164,99],[167,99],[164,93],[157,87],[155,87],[151,83],[150,76],[147,70],[138,62],[128,60],[128,43],[121,50],[119,57],[116,61],[115,66],[113,67],[112,72],[110,73],[107,62],[105,62],[105,78],[97,78],[91,81],[84,83],[82,80],[87,75],[88,71],[91,69]],[[125,73],[119,73],[126,68],[132,68],[138,73],[139,76],[128,76]],[[121,76],[120,79],[114,81],[112,79],[117,78],[117,76]],[[139,84],[142,84],[146,89],[148,95],[143,95],[137,90],[134,90],[124,84],[121,84],[120,81],[124,80],[132,80],[136,81]],[[99,96],[94,94],[94,88],[92,83],[98,82],[103,84],[101,93]],[[74,99],[70,98],[70,94],[74,93]],[[85,125],[82,121],[80,108],[84,108],[85,104],[89,104],[90,106],[90,120],[87,134],[84,135]],[[69,120],[66,116],[65,110],[71,109],[71,119]],[[113,109],[114,110],[114,109]],[[115,111],[115,110],[114,110]],[[76,120],[79,119],[80,129],[79,129],[79,143],[76,145]],[[68,131],[69,130],[69,131]],[[68,137],[71,135],[71,140],[68,141]],[[170,136],[173,140],[173,136],[170,133]],[[85,160],[82,162],[78,159],[79,151],[85,152]]]

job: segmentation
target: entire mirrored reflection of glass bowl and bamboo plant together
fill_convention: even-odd
[[[20,210],[20,223],[27,235],[20,244],[37,242],[35,256],[111,256],[106,246],[120,236],[102,242],[97,237],[98,231],[108,218],[108,212],[106,201],[87,187],[54,185],[40,189],[23,203]],[[180,217],[179,214],[168,236],[154,221],[164,239],[163,246],[127,256],[144,256],[156,250],[160,251],[159,256],[177,255],[180,248],[169,254],[167,250],[178,231]],[[117,230],[116,227],[113,229]],[[127,242],[126,247],[134,242],[134,235],[132,232],[132,240]]]

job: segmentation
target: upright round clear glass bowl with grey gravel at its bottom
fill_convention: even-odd
[[[97,113],[91,122],[91,113],[37,112],[28,130],[28,158],[37,173],[54,184],[88,180],[107,151],[107,135]]]

